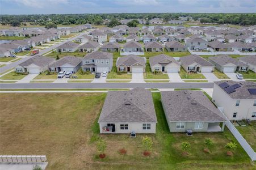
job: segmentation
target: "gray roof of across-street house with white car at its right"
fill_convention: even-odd
[[[237,59],[234,59],[232,57],[229,57],[228,55],[209,57],[209,60],[217,63],[220,66],[224,66],[228,63],[233,63],[236,66],[247,66],[245,63],[238,61]]]

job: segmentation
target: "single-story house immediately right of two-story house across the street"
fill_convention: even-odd
[[[146,58],[130,54],[125,57],[118,57],[116,60],[117,71],[131,73],[145,73]]]

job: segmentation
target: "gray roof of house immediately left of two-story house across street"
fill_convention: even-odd
[[[61,59],[58,59],[56,62],[54,62],[49,67],[61,67],[61,66],[65,65],[66,63],[75,67],[75,66],[79,65],[79,63],[81,63],[81,62],[82,62],[81,57],[65,56]]]

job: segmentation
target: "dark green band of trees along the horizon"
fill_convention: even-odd
[[[47,25],[53,24],[96,24],[104,23],[105,19],[110,19],[108,26],[113,27],[120,24],[120,19],[146,19],[161,18],[164,22],[170,19],[178,19],[179,16],[191,16],[194,20],[200,20],[200,23],[217,24],[237,24],[237,25],[255,25],[256,13],[248,14],[223,14],[223,13],[121,13],[121,14],[35,14],[35,15],[0,15],[2,25],[11,25],[14,27],[26,25]],[[131,24],[135,24],[134,22]]]

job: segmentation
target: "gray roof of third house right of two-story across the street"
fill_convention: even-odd
[[[198,55],[195,55],[195,54],[192,54],[190,56],[181,57],[182,65],[188,66],[194,62],[198,63],[201,66],[213,66],[212,63],[208,62],[206,59],[204,59]]]

